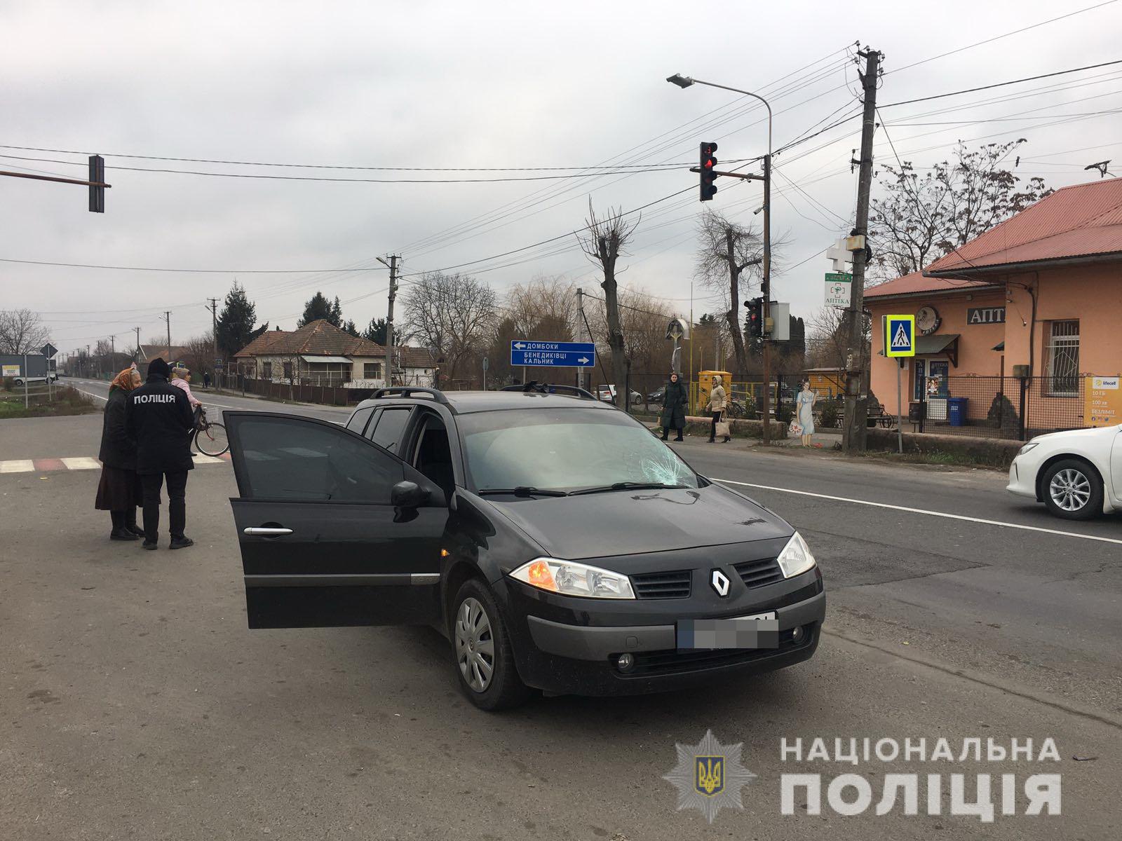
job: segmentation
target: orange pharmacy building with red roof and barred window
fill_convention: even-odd
[[[881,320],[913,314],[905,412],[923,390],[932,419],[946,419],[947,398],[968,396],[969,419],[992,420],[994,399],[1011,390],[997,378],[1023,375],[1027,416],[1052,417],[1057,428],[1089,425],[1085,377],[1122,369],[1122,178],[1057,190],[922,271],[866,289],[865,306],[871,386],[890,412],[898,364],[883,354]],[[1019,398],[1009,397],[1014,406]]]

